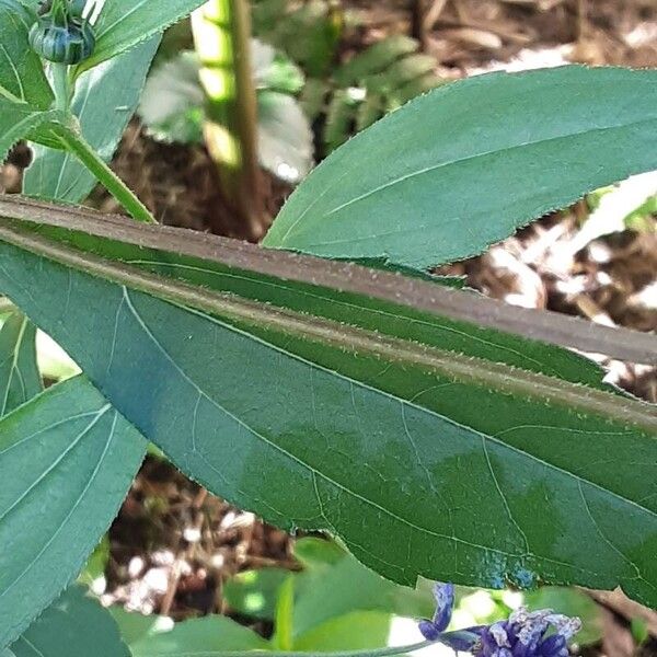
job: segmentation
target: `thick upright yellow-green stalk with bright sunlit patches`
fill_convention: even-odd
[[[228,204],[244,237],[261,238],[267,219],[257,160],[257,107],[251,68],[246,0],[209,0],[192,15],[200,81],[206,92],[205,137]]]

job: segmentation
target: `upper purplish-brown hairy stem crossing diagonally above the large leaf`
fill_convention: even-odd
[[[116,215],[99,215],[88,209],[56,206],[20,196],[0,196],[0,216],[84,231],[97,238],[171,251],[284,280],[365,295],[451,320],[606,354],[620,360],[657,365],[657,336],[654,334],[611,328],[556,312],[509,306],[417,278],[262,249],[207,233],[165,226],[138,226]]]

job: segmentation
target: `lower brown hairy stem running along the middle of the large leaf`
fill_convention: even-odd
[[[445,351],[333,320],[279,309],[232,293],[206,290],[69,249],[59,242],[24,232],[8,220],[0,220],[0,240],[73,269],[193,309],[192,312],[196,310],[221,318],[229,324],[269,328],[349,353],[376,356],[385,362],[410,364],[456,382],[534,399],[612,422],[622,422],[650,434],[657,433],[657,407],[631,397]]]

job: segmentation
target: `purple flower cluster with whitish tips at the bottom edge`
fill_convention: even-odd
[[[445,632],[454,606],[454,586],[436,584],[434,597],[436,613],[430,621],[419,622],[422,635],[474,657],[568,657],[568,639],[581,627],[577,618],[551,609],[528,611],[520,607],[506,621]]]

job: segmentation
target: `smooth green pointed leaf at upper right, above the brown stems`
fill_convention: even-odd
[[[657,169],[657,71],[578,66],[456,82],[327,158],[265,244],[427,267]]]

